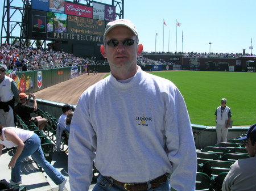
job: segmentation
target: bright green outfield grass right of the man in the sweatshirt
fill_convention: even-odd
[[[155,71],[174,82],[187,104],[192,124],[215,126],[221,98],[228,101],[233,125],[256,123],[256,73],[218,71]]]

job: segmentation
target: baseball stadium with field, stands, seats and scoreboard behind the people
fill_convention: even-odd
[[[4,0],[0,67],[5,67],[6,76],[14,80],[19,93],[36,95],[38,109],[31,113],[32,117],[47,120],[41,131],[34,122],[26,123],[15,113],[15,126],[38,134],[44,157],[67,178],[64,190],[71,190],[69,131],[58,132],[61,108],[69,104],[76,109],[82,93],[110,75],[100,45],[104,44],[106,24],[123,19],[124,10],[124,0],[113,0],[112,4],[92,0],[22,0],[22,6]],[[12,20],[14,14],[20,14],[22,19]],[[12,35],[14,27],[19,28],[20,36]],[[38,48],[33,48],[35,44]],[[142,52],[137,64],[147,73],[171,80],[179,88],[187,105],[197,151],[196,190],[221,190],[230,165],[249,158],[238,138],[245,136],[256,121],[253,104],[256,56],[245,51],[239,54]],[[216,144],[214,112],[224,97],[232,109],[233,124],[228,129],[228,141]],[[33,101],[31,98],[30,105]],[[9,182],[8,164],[14,153],[15,148],[3,148],[0,180]],[[92,170],[89,190],[100,175],[94,165]],[[20,171],[22,184],[11,184],[13,190],[58,190],[31,156],[22,161]],[[1,186],[0,182],[0,190],[5,190]]]

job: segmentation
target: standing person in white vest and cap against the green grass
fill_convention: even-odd
[[[215,121],[216,121],[216,134],[217,134],[217,144],[222,142],[226,142],[229,124],[231,122],[231,109],[226,106],[226,99],[221,99],[221,106],[217,107],[215,111]],[[228,123],[226,123],[228,120]]]

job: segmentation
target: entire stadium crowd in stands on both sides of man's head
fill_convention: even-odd
[[[143,52],[143,54],[183,54],[185,57],[201,57],[215,58],[226,57],[236,58],[240,56],[251,56],[251,54],[242,55],[242,53],[196,53],[196,52]],[[253,54],[252,56],[255,56]],[[108,61],[96,61],[96,57],[82,58],[63,51],[54,51],[48,49],[36,49],[17,47],[11,44],[0,44],[0,65],[6,65],[8,70],[27,71],[48,69],[66,66],[81,66],[81,65],[106,65]],[[173,65],[175,63],[159,59],[158,61],[138,57],[139,65]]]

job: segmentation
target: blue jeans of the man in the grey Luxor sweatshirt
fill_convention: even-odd
[[[167,180],[159,184],[156,188],[151,188],[150,183],[148,183],[148,189],[150,191],[170,191],[170,181]],[[113,184],[113,179],[100,175],[97,179],[97,183],[93,188],[93,191],[126,191],[122,186]]]

